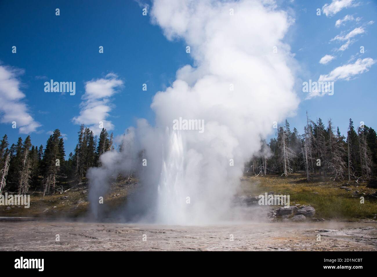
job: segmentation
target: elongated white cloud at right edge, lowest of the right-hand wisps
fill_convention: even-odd
[[[357,59],[353,64],[341,65],[332,70],[327,75],[320,75],[319,82],[346,80],[349,81],[353,76],[367,72],[375,64],[376,60],[372,58]]]

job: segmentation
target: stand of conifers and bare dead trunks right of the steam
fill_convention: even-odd
[[[291,131],[287,120],[277,125],[276,138],[266,143],[247,164],[248,174],[287,176],[303,171],[308,181],[315,176],[330,180],[368,181],[377,173],[377,135],[374,129],[352,119],[346,135],[340,134],[331,119],[315,122],[307,114],[303,134]]]

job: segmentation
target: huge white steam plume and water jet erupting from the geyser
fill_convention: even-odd
[[[141,186],[127,199],[127,220],[218,222],[229,218],[261,137],[298,105],[282,43],[292,20],[272,1],[156,0],[151,16],[169,40],[190,46],[195,67],[179,68],[172,86],[155,95],[155,126],[140,119],[123,139],[127,148],[106,152],[103,167],[89,170],[92,211],[100,216],[98,197],[117,173],[136,170]],[[173,130],[179,117],[204,120],[204,132]]]

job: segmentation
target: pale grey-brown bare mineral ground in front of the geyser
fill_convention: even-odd
[[[375,251],[376,222],[255,223],[211,226],[0,221],[0,250],[19,251]],[[60,242],[55,241],[56,234]],[[143,241],[146,234],[146,241]],[[233,234],[234,240],[230,240]],[[320,242],[317,234],[321,235]]]

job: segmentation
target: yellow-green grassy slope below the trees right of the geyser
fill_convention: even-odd
[[[257,184],[252,185],[255,181]],[[351,191],[340,189],[345,183],[326,181],[325,178],[307,182],[303,174],[249,178],[249,186],[252,185],[254,194],[270,191],[288,193],[291,205],[299,203],[313,206],[316,209],[316,218],[348,221],[374,218],[377,214],[377,201],[368,198],[367,194],[374,193],[375,190],[366,187],[366,184],[357,183],[348,186]],[[352,196],[354,191],[359,191],[357,196]],[[364,204],[360,203],[360,196],[364,196]]]

